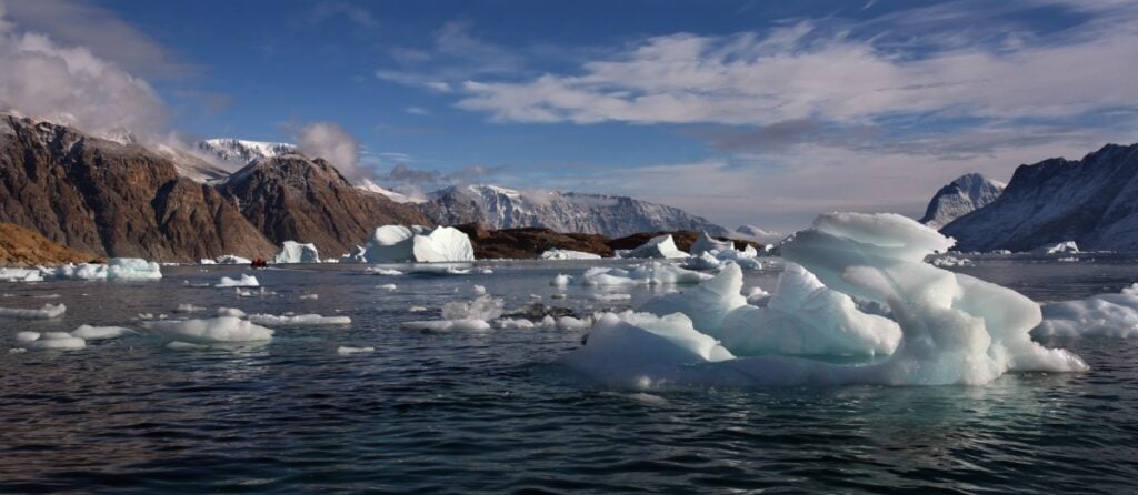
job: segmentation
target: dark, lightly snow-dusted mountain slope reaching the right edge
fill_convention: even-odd
[[[1138,250],[1138,144],[1022,165],[996,201],[941,233],[962,251],[1030,251],[1065,241],[1083,250]]]

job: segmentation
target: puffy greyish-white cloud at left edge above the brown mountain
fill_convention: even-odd
[[[166,107],[146,81],[6,18],[0,5],[0,111],[101,135],[164,127]]]

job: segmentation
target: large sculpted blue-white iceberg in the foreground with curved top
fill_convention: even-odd
[[[587,345],[560,361],[630,388],[981,385],[1007,371],[1087,369],[1079,356],[1031,341],[1041,321],[1031,300],[923,262],[951,244],[898,215],[823,215],[782,245],[783,257],[802,267],[787,266],[768,304],[784,314],[747,304],[741,272],[727,268],[695,291],[645,304],[659,314],[602,316]],[[884,305],[891,319],[858,311],[855,299]],[[770,326],[794,335],[770,338]],[[846,364],[787,351],[889,355]]]

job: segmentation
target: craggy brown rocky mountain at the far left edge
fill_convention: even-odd
[[[0,117],[0,221],[97,255],[190,261],[274,246],[165,156],[76,129]]]

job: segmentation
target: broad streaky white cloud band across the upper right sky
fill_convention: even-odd
[[[809,22],[764,35],[646,39],[576,74],[470,81],[457,106],[502,121],[864,124],[894,115],[1055,118],[1138,101],[1138,28],[1033,44],[898,52]]]

